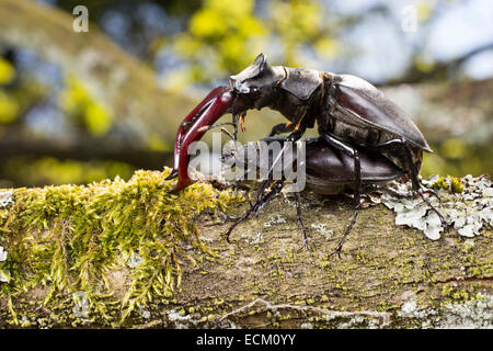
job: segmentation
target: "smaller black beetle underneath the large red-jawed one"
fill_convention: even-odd
[[[301,147],[305,149],[306,180],[307,188],[309,190],[323,195],[337,195],[348,191],[355,192],[354,162],[349,155],[326,143],[326,140],[322,137],[310,138],[298,143],[301,143]],[[252,167],[250,167],[252,162],[249,161],[252,158],[251,155],[255,155],[256,158],[260,159],[262,145],[263,144],[260,143],[249,143],[248,145],[243,146],[243,150],[240,150],[241,152],[236,152],[234,150],[232,150],[230,154],[222,155],[222,161],[230,163],[230,158],[237,158],[237,155],[240,155],[240,157],[244,156],[242,160],[239,160],[239,165],[242,166],[242,168],[244,168],[244,165],[246,165],[245,173],[259,171],[257,169],[252,169]],[[290,159],[293,165],[295,165],[297,152],[295,152],[294,149],[291,150],[293,157]],[[403,195],[383,186],[391,180],[401,178],[404,174],[402,169],[381,154],[372,152],[364,148],[357,148],[357,150],[359,154],[360,163],[360,191],[370,192],[375,190],[381,190],[392,194],[392,196],[402,197]],[[249,158],[246,158],[246,155],[249,156]],[[255,168],[262,167],[259,165],[263,165],[263,167],[268,168],[270,166],[272,166],[272,162],[274,161],[276,156],[277,155],[275,154],[268,154],[270,159],[267,162],[254,161],[253,165]],[[225,233],[228,242],[229,236],[237,225],[246,219],[249,215],[255,216],[271,200],[273,200],[282,191],[285,185],[285,179],[275,180],[274,182],[273,181],[274,180],[271,178],[263,180],[259,190],[256,202],[242,216],[236,218],[237,220],[234,222],[234,224]],[[264,194],[264,190],[267,185],[271,185],[271,190],[270,192]],[[307,247],[308,239],[305,225],[301,219],[299,193],[294,192],[294,194],[296,200],[297,217],[303,235],[302,248],[305,248]],[[341,252],[344,240],[346,239],[356,222],[356,215],[357,212],[354,213],[353,220],[344,231],[344,235],[336,249],[334,250],[334,253]]]

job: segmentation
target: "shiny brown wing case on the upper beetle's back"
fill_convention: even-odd
[[[369,82],[351,75],[334,81],[335,101],[353,116],[378,129],[403,137],[409,143],[433,152],[423,134],[408,114]]]

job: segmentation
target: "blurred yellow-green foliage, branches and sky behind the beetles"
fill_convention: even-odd
[[[491,173],[491,1],[0,0],[0,188],[171,166],[180,121],[261,52],[383,89],[435,150],[424,176]],[[279,121],[249,113],[241,139]]]

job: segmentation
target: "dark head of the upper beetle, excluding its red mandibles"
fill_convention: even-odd
[[[249,101],[249,107],[262,109],[272,100],[276,83],[283,79],[285,72],[282,66],[271,66],[262,53],[255,61],[240,73],[229,77],[230,86],[237,95]]]

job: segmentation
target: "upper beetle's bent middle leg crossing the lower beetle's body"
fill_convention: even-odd
[[[359,162],[359,152],[352,146],[339,140],[337,138],[331,136],[330,134],[323,134],[323,138],[325,141],[328,141],[330,145],[336,147],[341,151],[349,155],[354,160],[354,212],[353,212],[353,219],[351,220],[349,226],[344,231],[344,235],[339,242],[337,247],[335,248],[334,252],[331,253],[337,253],[339,258],[341,258],[341,250],[344,245],[344,241],[346,240],[347,236],[349,235],[351,229],[353,229],[354,224],[356,223],[356,217],[358,215],[359,208],[360,208],[360,191],[362,191],[362,166]]]

